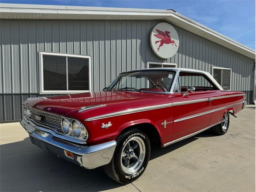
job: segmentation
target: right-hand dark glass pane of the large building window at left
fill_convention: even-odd
[[[89,59],[68,57],[68,90],[89,90]]]

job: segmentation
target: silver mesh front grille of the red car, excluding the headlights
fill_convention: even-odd
[[[43,112],[40,110],[35,110],[32,108],[29,108],[29,109],[31,111],[30,118],[34,121],[34,123],[45,126],[46,128],[53,129],[55,132],[65,135],[61,128],[61,116],[52,114],[52,113]],[[36,116],[41,117],[41,120],[36,119]],[[72,123],[72,119],[68,119],[68,118],[66,119],[69,120],[70,123]],[[69,136],[76,138],[72,130]],[[82,139],[83,140],[88,139],[87,130],[86,130],[85,136]]]

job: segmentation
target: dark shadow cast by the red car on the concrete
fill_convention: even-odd
[[[150,160],[191,143],[198,136],[165,148],[154,147]],[[31,144],[29,138],[2,144],[0,154],[0,191],[101,191],[128,187],[108,178],[101,167],[88,170],[45,153]]]

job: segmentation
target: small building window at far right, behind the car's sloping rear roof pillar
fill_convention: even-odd
[[[231,89],[231,68],[212,67],[212,76],[224,90]]]

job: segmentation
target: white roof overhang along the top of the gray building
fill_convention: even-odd
[[[173,10],[0,3],[0,19],[165,20],[255,60],[255,50]]]

